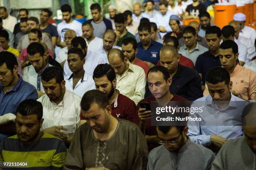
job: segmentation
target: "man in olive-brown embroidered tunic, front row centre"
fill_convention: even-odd
[[[137,125],[113,117],[104,92],[86,92],[81,111],[87,123],[74,134],[64,170],[146,170],[146,139]]]

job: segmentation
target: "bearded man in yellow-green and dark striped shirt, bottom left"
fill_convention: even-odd
[[[33,99],[23,100],[16,115],[17,135],[1,141],[0,161],[23,162],[31,170],[62,169],[67,150],[62,140],[40,130],[44,122],[42,104]]]

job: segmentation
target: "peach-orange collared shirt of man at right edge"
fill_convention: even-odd
[[[232,90],[238,93],[243,100],[256,100],[256,73],[240,65],[236,65],[230,81],[233,82]],[[208,87],[205,84],[204,96],[209,95]]]

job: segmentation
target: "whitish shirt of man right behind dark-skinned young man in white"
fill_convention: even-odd
[[[87,72],[90,75],[93,75],[94,69],[99,64],[105,64],[106,60],[102,57],[102,55],[99,55],[95,52],[87,51],[87,54],[85,56],[85,63],[84,63],[84,71]],[[69,69],[69,65],[67,60],[64,63],[64,76],[69,77],[72,75],[72,71]]]

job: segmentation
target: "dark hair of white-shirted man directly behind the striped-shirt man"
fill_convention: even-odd
[[[64,80],[64,75],[58,67],[47,67],[42,73],[41,80],[49,82],[53,78],[55,78],[56,82],[60,84]]]

